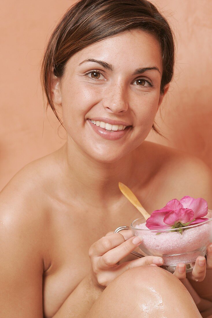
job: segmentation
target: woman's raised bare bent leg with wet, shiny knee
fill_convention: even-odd
[[[128,269],[108,285],[86,318],[201,318],[180,280],[157,266]]]

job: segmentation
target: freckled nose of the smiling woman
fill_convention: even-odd
[[[114,114],[125,113],[127,111],[127,91],[123,85],[115,84],[114,86],[110,86],[105,93],[107,94],[104,101],[106,110]]]

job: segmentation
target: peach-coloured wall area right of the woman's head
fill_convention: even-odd
[[[169,142],[212,168],[212,1],[156,1],[178,42],[175,76],[157,122]]]

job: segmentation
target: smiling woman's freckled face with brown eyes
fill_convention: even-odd
[[[103,39],[74,54],[63,77],[53,82],[68,135],[99,162],[119,160],[152,128],[164,96],[161,74],[159,43],[141,30]]]

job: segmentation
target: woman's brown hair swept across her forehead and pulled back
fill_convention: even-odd
[[[146,0],[80,0],[59,21],[47,44],[42,62],[41,80],[47,107],[60,120],[51,95],[52,71],[62,77],[65,63],[73,54],[104,38],[132,29],[153,34],[162,55],[161,93],[173,77],[174,39],[166,19]],[[161,135],[153,124],[153,129]]]

